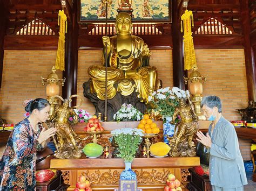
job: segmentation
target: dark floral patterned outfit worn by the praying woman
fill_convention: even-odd
[[[15,125],[0,161],[0,190],[35,190],[36,152],[43,149],[38,127],[35,133],[27,118]]]

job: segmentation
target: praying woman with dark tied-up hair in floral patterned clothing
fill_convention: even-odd
[[[29,118],[15,125],[0,161],[0,190],[35,190],[36,152],[56,130],[45,130],[42,122],[49,117],[50,104],[43,98],[30,101],[25,110]]]

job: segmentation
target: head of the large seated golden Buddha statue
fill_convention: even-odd
[[[126,12],[120,12],[116,18],[116,31],[119,34],[130,34],[132,28],[131,16]]]

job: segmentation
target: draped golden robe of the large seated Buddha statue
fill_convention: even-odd
[[[131,35],[132,47],[128,56],[121,56],[117,51],[117,36],[110,37],[110,53],[107,55],[107,99],[113,98],[117,91],[124,96],[134,90],[141,102],[148,102],[148,96],[157,90],[160,81],[157,77],[157,68],[149,66],[150,53],[143,56],[141,53],[146,44],[143,39]],[[100,100],[105,100],[105,64],[104,50],[103,66],[90,66],[88,74],[91,78],[91,93],[97,93]]]

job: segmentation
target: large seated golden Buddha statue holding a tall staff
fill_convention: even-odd
[[[107,99],[117,91],[129,96],[135,90],[141,102],[148,102],[148,96],[160,88],[157,68],[149,66],[151,52],[143,39],[131,34],[131,16],[120,12],[116,18],[117,34],[103,37],[103,66],[90,66],[90,91],[105,100],[105,52],[107,52]]]

